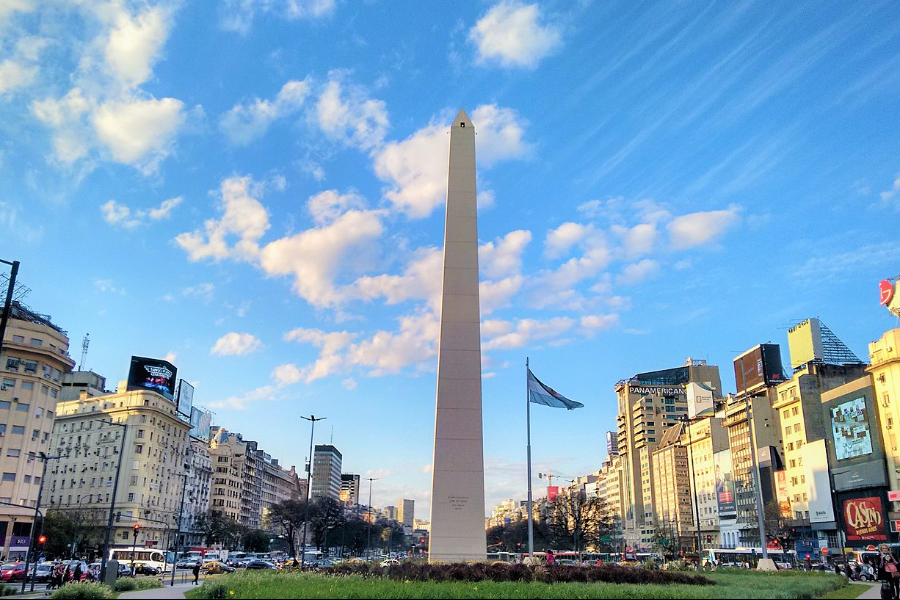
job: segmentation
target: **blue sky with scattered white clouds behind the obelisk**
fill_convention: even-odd
[[[896,320],[900,4],[0,0],[0,258],[85,368],[168,358],[428,518],[447,131],[476,139],[487,507],[599,468],[616,381]],[[368,487],[364,485],[364,500]]]

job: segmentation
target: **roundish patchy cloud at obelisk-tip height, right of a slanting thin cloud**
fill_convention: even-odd
[[[372,150],[380,146],[389,126],[384,101],[366,96],[360,86],[344,85],[332,73],[316,104],[319,127],[329,137]]]

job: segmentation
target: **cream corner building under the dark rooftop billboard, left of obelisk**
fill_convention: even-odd
[[[151,390],[120,385],[115,394],[91,397],[84,391],[60,402],[52,436],[59,458],[45,492],[49,506],[96,513],[114,502],[113,545],[168,547],[177,529],[189,430],[175,402]],[[136,539],[135,524],[141,525]]]

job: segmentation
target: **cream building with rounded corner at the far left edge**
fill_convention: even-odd
[[[51,456],[56,403],[63,376],[75,361],[69,338],[49,316],[19,302],[10,305],[0,365],[0,555],[23,558]],[[52,461],[51,461],[52,462]],[[47,470],[55,463],[48,464]],[[45,486],[46,487],[46,486]],[[43,500],[42,505],[46,505]]]

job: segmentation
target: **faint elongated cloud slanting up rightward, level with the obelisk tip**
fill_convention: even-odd
[[[222,117],[219,127],[233,144],[249,144],[261,138],[276,119],[298,111],[309,95],[309,88],[305,80],[288,81],[272,102],[255,98],[234,106]]]

